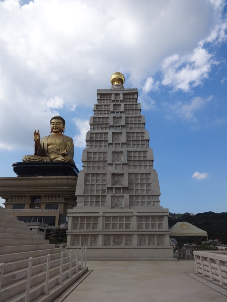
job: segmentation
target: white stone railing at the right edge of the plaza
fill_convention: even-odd
[[[196,273],[227,284],[227,251],[194,251]]]

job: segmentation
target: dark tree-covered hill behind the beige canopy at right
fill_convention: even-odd
[[[186,221],[206,231],[208,233],[208,239],[220,239],[222,244],[227,244],[227,212],[219,214],[205,212],[196,215],[192,213],[169,213],[169,228],[181,221]]]

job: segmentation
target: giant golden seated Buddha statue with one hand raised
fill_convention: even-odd
[[[40,133],[34,131],[34,155],[25,155],[23,162],[67,162],[74,164],[74,145],[71,137],[64,135],[66,122],[61,116],[50,120],[50,135],[40,140]]]

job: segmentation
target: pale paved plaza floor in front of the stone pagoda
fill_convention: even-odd
[[[88,261],[87,266],[90,274],[55,302],[227,301],[227,286],[198,277],[194,260]]]

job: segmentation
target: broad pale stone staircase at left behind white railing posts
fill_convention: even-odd
[[[29,258],[33,257],[29,302],[52,302],[76,280],[81,278],[87,267],[78,266],[72,261],[69,278],[69,256],[64,253],[62,285],[59,285],[60,256],[62,248],[55,248],[42,235],[30,231],[29,227],[16,217],[0,210],[0,263],[4,263],[0,302],[24,302],[28,275]],[[47,255],[50,254],[48,295],[45,293]]]

